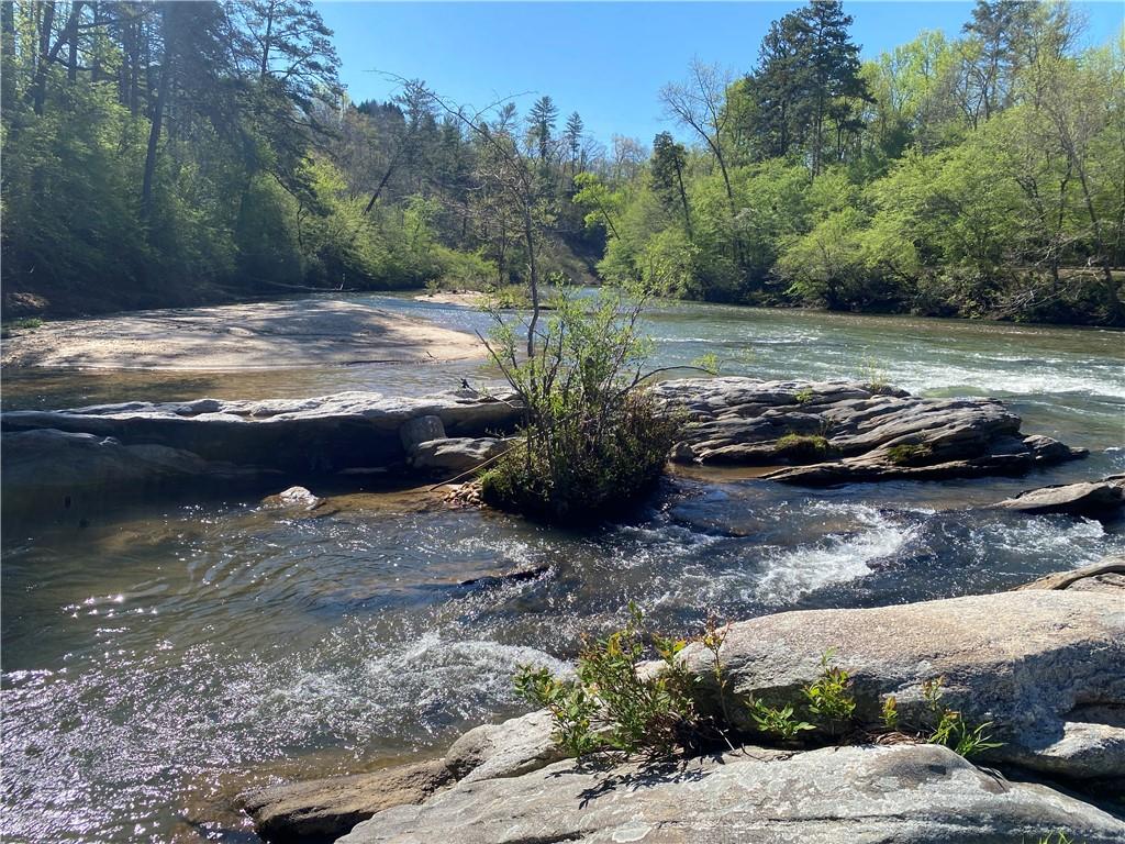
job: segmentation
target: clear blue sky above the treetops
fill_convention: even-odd
[[[521,111],[548,93],[562,115],[577,110],[608,143],[629,135],[651,143],[673,127],[657,91],[693,55],[749,70],[771,20],[791,2],[318,2],[335,30],[342,78],[353,100],[387,99],[381,72],[424,79],[443,96],[475,106],[516,93]],[[846,2],[864,57],[911,41],[921,29],[956,35],[971,2]],[[1080,2],[1087,41],[1120,32],[1125,3]],[[680,134],[678,132],[676,134]]]

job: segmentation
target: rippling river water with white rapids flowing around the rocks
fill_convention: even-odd
[[[454,306],[364,296],[452,327]],[[684,632],[709,613],[861,607],[990,592],[1125,549],[1125,526],[980,506],[1125,470],[1125,349],[1105,331],[668,304],[657,363],[878,377],[926,395],[996,395],[1025,430],[1090,448],[1026,478],[824,491],[738,473],[677,475],[586,535],[421,492],[332,495],[315,514],[256,500],[132,509],[83,530],[3,537],[6,841],[253,841],[246,784],[436,754],[516,711],[520,663],[560,667],[636,600]],[[441,367],[253,374],[16,374],[6,407],[250,398],[484,381]],[[513,571],[537,574],[512,580]]]

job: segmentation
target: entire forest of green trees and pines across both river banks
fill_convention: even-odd
[[[2,12],[6,316],[596,273],[1123,320],[1123,50],[1080,50],[1065,5],[981,0],[961,37],[863,62],[812,0],[745,75],[698,61],[664,86],[676,134],[651,147],[597,143],[549,96],[474,110],[403,79],[352,102],[308,0]]]

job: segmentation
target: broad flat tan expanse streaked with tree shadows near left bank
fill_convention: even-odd
[[[4,367],[207,370],[458,360],[485,348],[425,320],[302,299],[46,322],[4,341],[2,354]]]

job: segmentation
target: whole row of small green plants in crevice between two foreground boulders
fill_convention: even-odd
[[[721,657],[729,630],[729,625],[720,628],[709,620],[695,639],[709,654],[706,674],[700,676],[688,671],[680,657],[687,640],[650,632],[640,610],[630,603],[629,621],[622,629],[582,649],[576,677],[560,680],[546,668],[521,666],[515,690],[550,712],[556,743],[577,757],[620,752],[662,758],[717,739],[734,747],[729,736],[739,720],[734,712],[736,706],[753,724],[752,731],[790,746],[807,740],[804,734],[819,735],[814,744],[822,743],[825,736],[845,743],[898,737],[940,744],[965,757],[1000,746],[991,740],[991,721],[970,724],[961,712],[944,704],[944,677],[922,684],[925,724],[903,724],[898,700],[889,694],[882,701],[881,728],[875,733],[865,729],[856,719],[852,675],[834,664],[835,648],[821,655],[818,676],[801,686],[799,697],[771,702],[754,695],[739,699],[731,693]],[[651,643],[658,666],[638,671],[649,652],[646,641]],[[704,677],[717,692],[721,719],[701,715],[695,707],[694,693]],[[849,738],[842,739],[844,736]]]

